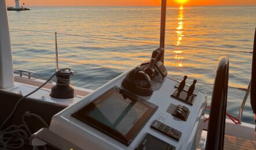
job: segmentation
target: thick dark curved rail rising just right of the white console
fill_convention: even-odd
[[[228,57],[220,57],[211,98],[206,149],[222,150],[224,147],[228,73]]]

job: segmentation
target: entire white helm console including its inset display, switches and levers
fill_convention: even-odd
[[[195,149],[203,129],[206,94],[193,88],[195,84],[184,84],[175,96],[181,98],[184,92],[193,103],[183,102],[171,96],[179,92],[181,83],[165,77],[162,83],[152,80],[150,94],[142,90],[149,96],[137,95],[122,86],[134,69],[55,115],[50,130],[82,149]],[[139,75],[143,80],[147,77]],[[136,80],[138,89],[148,84]]]

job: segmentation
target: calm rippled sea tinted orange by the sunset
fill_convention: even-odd
[[[14,68],[32,70],[41,78],[50,77],[55,69],[54,33],[43,32],[65,33],[57,34],[60,68],[70,67],[75,72],[72,84],[89,89],[96,89],[124,70],[149,61],[151,52],[158,48],[158,44],[147,43],[159,43],[159,7],[31,9],[8,12]],[[247,88],[251,54],[204,48],[252,51],[255,25],[256,6],[168,7],[165,65],[169,77],[181,79],[186,74],[188,80],[211,84],[218,58],[228,55],[229,86]],[[210,104],[213,86],[200,83],[196,88],[209,95]],[[243,96],[243,91],[229,88],[228,113],[238,115]],[[253,123],[250,97],[244,108],[243,121]]]

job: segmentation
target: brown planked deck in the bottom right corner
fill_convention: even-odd
[[[256,149],[256,143],[253,140],[225,135],[224,149]]]

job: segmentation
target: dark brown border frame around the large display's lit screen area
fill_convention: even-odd
[[[104,102],[104,100],[106,100],[108,96],[113,94],[114,92],[119,92],[120,94],[123,94],[123,96],[126,96],[131,101],[133,101],[132,103],[140,103],[147,107],[145,113],[142,114],[140,119],[138,119],[138,121],[133,125],[133,127],[130,128],[130,130],[125,135],[118,132],[118,130],[112,129],[104,123],[97,121],[97,119],[94,119],[89,116],[89,113],[92,112],[95,108],[97,108],[98,104]],[[118,87],[114,87],[109,91],[105,92],[103,95],[99,96],[97,99],[93,100],[93,102],[87,104],[85,107],[82,107],[79,111],[76,111],[74,114],[72,114],[72,117],[75,117],[76,119],[79,119],[87,125],[90,125],[93,128],[100,130],[101,132],[107,134],[112,138],[115,138],[115,140],[118,140],[120,143],[129,146],[130,143],[138,134],[138,132],[140,132],[142,127],[145,125],[145,123],[148,121],[148,119],[152,116],[152,114],[156,111],[157,108],[158,107],[154,104],[149,103],[146,100],[136,95],[133,95],[130,92],[127,92]]]

